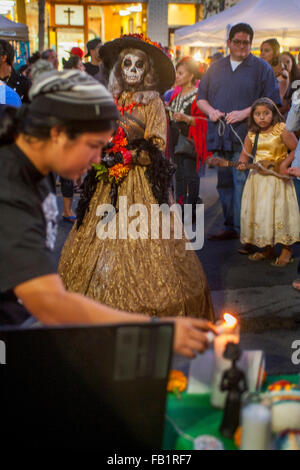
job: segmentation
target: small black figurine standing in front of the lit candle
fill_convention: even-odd
[[[220,386],[222,392],[228,391],[220,433],[228,439],[233,438],[239,425],[241,396],[248,389],[244,372],[236,366],[240,357],[239,345],[227,343],[224,358],[231,360],[232,366],[224,372]]]

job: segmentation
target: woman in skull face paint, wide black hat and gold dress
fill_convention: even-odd
[[[106,43],[100,55],[111,71],[109,89],[120,127],[101,165],[85,180],[77,225],[59,264],[64,284],[130,312],[213,320],[202,266],[194,251],[186,250],[184,236],[174,237],[179,215],[171,216],[169,239],[161,236],[160,226],[153,236],[153,205],[171,202],[174,168],[163,155],[167,119],[160,94],[175,81],[172,62],[160,45],[141,35]],[[113,208],[101,212],[103,204]],[[132,220],[128,213],[134,204],[140,216]],[[105,235],[114,226],[115,236]]]

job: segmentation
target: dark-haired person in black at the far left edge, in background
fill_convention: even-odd
[[[28,103],[30,81],[13,67],[14,49],[12,45],[0,39],[0,80],[18,93],[23,103]]]

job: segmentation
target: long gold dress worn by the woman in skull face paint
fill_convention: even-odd
[[[124,92],[119,104],[130,105],[132,94]],[[128,141],[154,139],[163,151],[166,142],[166,115],[161,99],[135,107],[130,119],[120,125]],[[150,159],[146,151],[138,164],[119,185],[118,204],[127,196],[128,208],[143,204],[151,214],[157,204],[145,175]],[[67,290],[86,295],[99,302],[128,312],[155,316],[193,316],[214,319],[207,279],[194,251],[186,250],[187,239],[174,239],[171,220],[170,239],[151,239],[141,234],[138,239],[99,239],[97,207],[110,204],[110,184],[99,181],[90,201],[83,224],[74,226],[62,251],[59,273]],[[99,214],[99,212],[98,212]],[[178,215],[177,215],[178,217]],[[130,224],[115,215],[116,226]],[[149,222],[150,224],[150,222]],[[145,235],[145,236],[144,236]]]

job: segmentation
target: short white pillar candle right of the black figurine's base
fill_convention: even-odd
[[[270,450],[271,410],[259,403],[242,410],[241,450]]]

